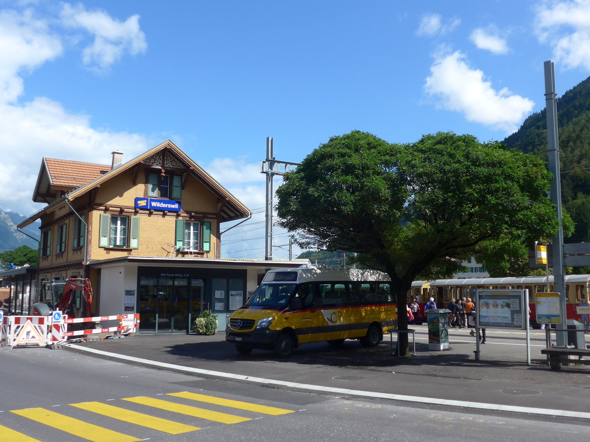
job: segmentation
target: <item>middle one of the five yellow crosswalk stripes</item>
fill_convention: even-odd
[[[82,410],[92,411],[93,413],[112,417],[120,421],[152,428],[152,430],[163,431],[164,433],[181,434],[188,433],[188,431],[201,430],[199,427],[192,427],[191,425],[181,424],[179,422],[162,419],[149,414],[137,413],[137,411],[114,407],[114,405],[101,404],[100,402],[83,402],[70,405],[81,408]]]

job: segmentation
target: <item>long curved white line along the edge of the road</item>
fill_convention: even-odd
[[[82,347],[76,344],[67,344],[68,347],[78,349],[81,351],[87,351],[97,355],[103,355],[110,358],[124,359],[125,361],[139,362],[139,364],[152,365],[157,368],[170,368],[171,370],[185,371],[188,373],[196,373],[201,375],[208,375],[218,378],[227,378],[230,380],[237,381],[248,381],[256,382],[258,384],[266,385],[281,385],[281,387],[289,388],[301,388],[302,390],[310,391],[323,391],[332,392],[337,394],[346,394],[350,396],[362,396],[362,397],[378,397],[383,399],[391,399],[396,401],[415,402],[421,404],[438,404],[447,405],[450,407],[460,408],[476,408],[481,410],[497,410],[497,411],[513,411],[514,413],[528,413],[536,415],[550,415],[550,416],[562,416],[562,417],[577,417],[582,419],[590,419],[590,413],[583,411],[571,411],[571,410],[552,410],[550,408],[535,408],[535,407],[516,407],[514,405],[500,405],[500,404],[486,404],[481,402],[467,402],[467,401],[451,401],[440,398],[430,397],[418,397],[418,396],[407,396],[403,394],[393,393],[381,393],[376,391],[363,391],[363,390],[348,390],[346,388],[336,387],[324,387],[322,385],[313,384],[299,384],[298,382],[290,381],[278,381],[273,379],[258,378],[253,376],[246,376],[242,374],[226,373],[223,371],[204,370],[202,368],[194,367],[183,367],[182,365],[168,364],[168,362],[150,361],[149,359],[136,358],[134,356],[120,355],[110,351],[103,351],[96,348]]]

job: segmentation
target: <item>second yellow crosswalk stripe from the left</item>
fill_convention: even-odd
[[[57,428],[66,433],[74,434],[93,442],[136,442],[140,441],[127,434],[107,430],[98,425],[89,424],[63,414],[54,413],[44,408],[27,408],[26,410],[11,410],[11,413]]]

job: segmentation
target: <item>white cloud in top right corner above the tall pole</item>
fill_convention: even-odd
[[[553,60],[590,70],[590,0],[544,2],[536,9],[539,41],[553,47]]]

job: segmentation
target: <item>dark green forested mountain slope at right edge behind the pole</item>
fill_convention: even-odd
[[[576,223],[568,242],[590,241],[590,77],[558,98],[563,206]],[[532,114],[502,141],[547,159],[546,111]]]

